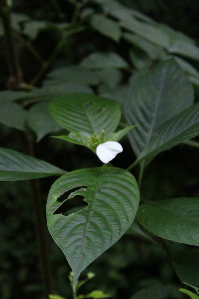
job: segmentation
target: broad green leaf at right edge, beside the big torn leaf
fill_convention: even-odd
[[[142,204],[136,220],[154,235],[199,246],[199,198],[174,198]]]

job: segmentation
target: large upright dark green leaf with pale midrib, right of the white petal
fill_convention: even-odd
[[[180,66],[169,59],[131,81],[125,114],[137,156],[145,149],[160,127],[194,103],[193,87]]]

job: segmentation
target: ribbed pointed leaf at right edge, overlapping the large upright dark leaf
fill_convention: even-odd
[[[143,159],[154,157],[162,151],[197,135],[199,135],[199,103],[191,106],[163,125],[157,136],[152,139],[135,161],[135,164]]]

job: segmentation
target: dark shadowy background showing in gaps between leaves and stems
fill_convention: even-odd
[[[166,23],[176,30],[199,41],[199,2],[195,0],[135,0],[122,1],[125,5],[138,9],[158,22]],[[71,19],[73,5],[65,0],[59,1],[66,20]],[[25,13],[36,20],[58,21],[53,1],[13,1],[13,10]],[[48,28],[33,40],[33,45],[48,58],[59,39],[58,31]],[[25,81],[30,81],[39,70],[39,63],[20,41],[17,42],[21,67]],[[3,42],[2,42],[3,44]],[[115,51],[126,60],[129,59],[125,41],[116,44],[96,32],[86,30],[68,39],[57,59],[55,66],[76,64],[93,51]],[[1,48],[1,88],[5,89],[8,67]],[[195,63],[197,66],[197,63]],[[127,79],[124,74],[123,80]],[[42,85],[41,78],[38,86]],[[1,125],[1,146],[21,151],[23,139],[18,131]],[[134,155],[127,137],[123,139],[124,152],[113,162],[118,167],[127,167]],[[100,161],[86,148],[49,136],[35,146],[36,156],[68,171],[78,168],[100,166]],[[146,169],[143,178],[142,195],[150,200],[174,198],[179,196],[199,197],[199,151],[187,145],[179,145],[160,154]],[[134,175],[138,173],[135,170]],[[45,207],[48,190],[53,178],[41,179],[42,200]],[[0,247],[0,284],[2,299],[41,298],[37,242],[35,239],[34,218],[31,206],[31,191],[26,182],[1,182],[1,247]],[[45,213],[45,211],[43,211]],[[70,268],[61,250],[48,234],[48,252],[53,266],[55,293],[67,298],[71,296],[68,281]],[[174,244],[176,248],[183,245]],[[184,246],[186,247],[186,246]],[[188,247],[188,246],[187,246]],[[186,247],[186,248],[187,248]],[[124,235],[112,248],[92,263],[85,271],[96,273],[82,292],[102,289],[114,298],[130,298],[137,290],[154,283],[173,286],[171,298],[182,298],[177,291],[181,285],[171,260],[164,248],[140,236]]]

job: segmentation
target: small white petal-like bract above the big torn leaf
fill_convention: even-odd
[[[96,148],[96,154],[103,163],[109,163],[121,152],[123,152],[123,148],[121,144],[116,141],[101,143]]]

